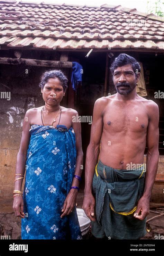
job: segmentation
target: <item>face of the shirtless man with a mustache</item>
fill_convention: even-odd
[[[128,64],[117,67],[113,73],[113,83],[119,94],[129,94],[136,87],[140,73],[133,71],[132,65]]]

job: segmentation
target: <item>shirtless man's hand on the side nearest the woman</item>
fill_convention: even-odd
[[[83,199],[83,210],[86,214],[86,216],[91,220],[91,221],[95,221],[95,210],[94,210],[94,206],[95,206],[95,200],[94,197],[92,195],[92,193],[89,193],[87,195],[84,194],[84,199]]]

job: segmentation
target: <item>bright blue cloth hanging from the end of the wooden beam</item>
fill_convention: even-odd
[[[83,67],[76,61],[72,62],[72,76],[71,76],[71,82],[72,82],[72,88],[76,91],[76,84],[78,82],[82,82],[82,70]]]

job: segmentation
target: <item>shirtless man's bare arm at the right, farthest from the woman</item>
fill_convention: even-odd
[[[149,123],[147,127],[147,157],[146,157],[146,172],[145,172],[145,188],[142,198],[138,201],[137,210],[135,213],[140,212],[141,215],[135,216],[140,220],[149,214],[149,201],[155,177],[158,169],[158,143],[159,143],[159,109],[158,105],[151,101],[148,105],[149,109]]]

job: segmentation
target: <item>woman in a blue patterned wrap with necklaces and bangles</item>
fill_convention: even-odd
[[[13,191],[22,239],[82,239],[75,207],[83,164],[81,124],[72,122],[76,110],[60,106],[67,81],[60,70],[45,72],[39,84],[45,105],[28,109],[24,118]]]

